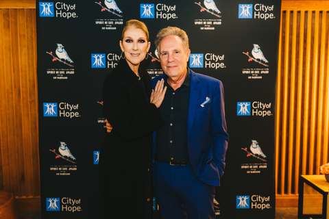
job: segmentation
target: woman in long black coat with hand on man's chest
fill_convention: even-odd
[[[157,108],[167,88],[160,81],[151,91],[149,75],[139,66],[149,50],[148,40],[144,23],[127,21],[121,59],[103,83],[103,106],[113,130],[106,134],[99,158],[100,218],[145,219],[151,214],[151,133],[163,123]]]

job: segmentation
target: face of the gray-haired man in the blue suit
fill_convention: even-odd
[[[179,79],[186,73],[188,57],[191,51],[186,52],[182,38],[179,36],[166,36],[160,42],[160,63],[164,73],[171,79]]]

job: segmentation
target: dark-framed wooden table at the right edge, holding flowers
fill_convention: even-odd
[[[329,183],[324,175],[301,175],[298,190],[298,218],[326,219]]]

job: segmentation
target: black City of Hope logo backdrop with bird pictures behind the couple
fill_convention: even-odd
[[[177,26],[190,40],[188,66],[223,81],[230,141],[217,218],[274,218],[280,1],[37,1],[36,13],[42,218],[97,218],[101,87],[132,18],[149,29],[151,77],[163,73],[156,34]]]

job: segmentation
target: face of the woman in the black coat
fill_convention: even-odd
[[[121,51],[125,52],[125,60],[132,70],[138,68],[139,63],[145,59],[149,46],[145,32],[135,27],[128,28],[120,41]]]

